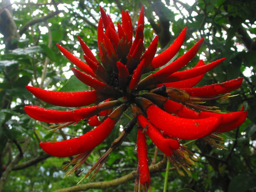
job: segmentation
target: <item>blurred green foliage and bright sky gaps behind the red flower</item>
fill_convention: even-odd
[[[243,77],[237,97],[207,103],[223,112],[240,110],[244,105],[248,118],[238,128],[223,134],[227,150],[217,150],[196,141],[188,145],[201,159],[191,176],[170,171],[168,191],[190,188],[195,191],[256,191],[256,1],[253,0],[2,0],[0,3],[0,191],[67,191],[84,176],[62,179],[62,162],[68,158],[50,157],[40,147],[40,141],[60,141],[82,135],[91,130],[79,122],[55,133],[48,132],[49,124],[31,119],[24,106],[34,104],[51,109],[66,108],[46,104],[34,98],[26,89],[32,85],[48,90],[83,91],[88,89],[73,78],[73,66],[61,55],[56,43],[82,58],[77,35],[97,53],[97,23],[99,5],[110,14],[114,23],[120,22],[122,10],[129,10],[136,27],[141,6],[145,7],[145,47],[156,34],[159,50],[165,50],[187,26],[185,42],[176,57],[181,56],[200,38],[204,44],[189,63],[193,67],[199,59],[205,63],[227,59],[205,74],[198,86]],[[67,80],[68,79],[68,80]],[[127,112],[129,114],[129,111]],[[82,166],[87,171],[108,149],[120,133],[120,126],[129,122],[122,116],[108,139],[99,145]],[[148,139],[149,163],[155,147]],[[126,141],[113,151],[100,172],[91,181],[89,191],[133,191],[134,179],[125,184],[99,189],[98,181],[111,181],[137,169],[134,151],[136,129]],[[158,152],[156,161],[163,154]],[[151,174],[152,191],[162,191],[165,169]],[[88,184],[87,184],[88,186]],[[96,188],[96,189],[92,189]],[[74,189],[74,188],[72,188]],[[74,191],[74,190],[70,190]]]

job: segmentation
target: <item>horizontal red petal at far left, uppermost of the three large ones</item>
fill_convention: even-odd
[[[26,86],[35,97],[57,106],[63,107],[81,107],[90,105],[98,100],[97,91],[81,91],[81,92],[59,92],[47,91],[37,87]],[[99,101],[100,102],[100,101]]]

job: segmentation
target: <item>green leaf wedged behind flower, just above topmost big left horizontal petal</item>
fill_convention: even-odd
[[[67,83],[59,90],[63,92],[76,92],[87,90],[88,86],[78,80],[74,75],[70,77]]]

